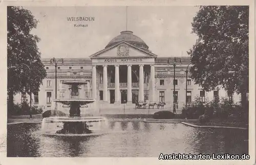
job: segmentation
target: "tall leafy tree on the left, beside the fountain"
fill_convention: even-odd
[[[19,92],[35,93],[39,90],[46,70],[37,48],[39,38],[31,34],[37,20],[29,10],[20,7],[7,8],[7,92],[8,107],[13,107],[13,96]],[[26,65],[28,65],[28,67]]]

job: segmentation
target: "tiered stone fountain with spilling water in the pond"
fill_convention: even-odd
[[[42,120],[43,134],[53,136],[96,136],[106,133],[107,127],[104,126],[106,126],[107,120],[105,117],[81,116],[81,106],[87,106],[87,104],[95,101],[94,99],[80,98],[79,89],[81,89],[81,85],[88,82],[73,80],[62,83],[70,86],[71,97],[70,99],[56,99],[53,102],[61,103],[62,107],[69,107],[69,116],[44,118]]]

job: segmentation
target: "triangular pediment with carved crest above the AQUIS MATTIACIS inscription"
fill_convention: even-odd
[[[136,46],[129,44],[125,41],[119,42],[110,48],[103,49],[90,56],[93,58],[129,58],[129,57],[150,57],[156,58],[157,55],[148,50],[137,48]]]

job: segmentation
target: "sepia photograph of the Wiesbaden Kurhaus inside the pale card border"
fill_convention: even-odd
[[[7,157],[249,160],[249,10],[7,6]]]

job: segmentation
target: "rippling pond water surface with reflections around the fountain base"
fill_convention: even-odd
[[[42,136],[38,132],[40,124],[8,125],[7,155],[158,157],[159,153],[248,153],[247,130],[144,122],[110,122],[109,129],[109,134],[81,139]]]

